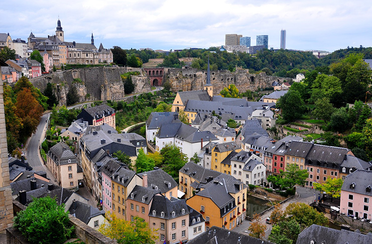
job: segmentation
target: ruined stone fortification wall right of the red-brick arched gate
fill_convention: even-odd
[[[167,69],[165,79],[172,85],[173,91],[200,90],[206,82],[207,72],[193,68]],[[230,84],[234,84],[241,92],[246,90],[255,91],[258,88],[271,87],[274,81],[283,82],[291,78],[268,76],[266,73],[250,74],[247,69],[238,69],[234,73],[228,70],[210,71],[210,82],[213,85],[213,94],[219,92]]]

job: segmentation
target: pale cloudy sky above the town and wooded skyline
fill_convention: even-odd
[[[354,0],[0,0],[0,33],[27,40],[55,34],[58,16],[65,41],[105,48],[183,49],[224,45],[225,34],[269,35],[287,49],[334,51],[372,46],[372,4]]]

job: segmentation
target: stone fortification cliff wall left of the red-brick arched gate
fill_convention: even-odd
[[[32,78],[30,81],[44,91],[48,82],[54,84],[60,105],[66,104],[66,95],[72,86],[75,86],[79,95],[79,102],[94,100],[113,100],[125,96],[124,86],[120,74],[139,71],[139,76],[132,76],[135,84],[134,93],[151,91],[150,79],[140,68],[131,67],[90,67],[80,69],[69,69]],[[79,78],[82,84],[74,83]]]

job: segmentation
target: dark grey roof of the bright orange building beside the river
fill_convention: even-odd
[[[213,180],[208,184],[208,186],[205,185],[204,190],[196,193],[196,195],[210,198],[220,209],[231,202],[235,203],[235,199],[227,191],[224,179],[221,181]]]

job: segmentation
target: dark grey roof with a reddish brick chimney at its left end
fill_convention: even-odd
[[[157,186],[162,193],[166,193],[167,191],[178,186],[177,182],[172,178],[172,176],[167,174],[162,169],[147,171],[138,175],[143,177],[144,174],[147,174],[148,187],[155,189]],[[171,187],[168,187],[168,183],[171,183]]]

